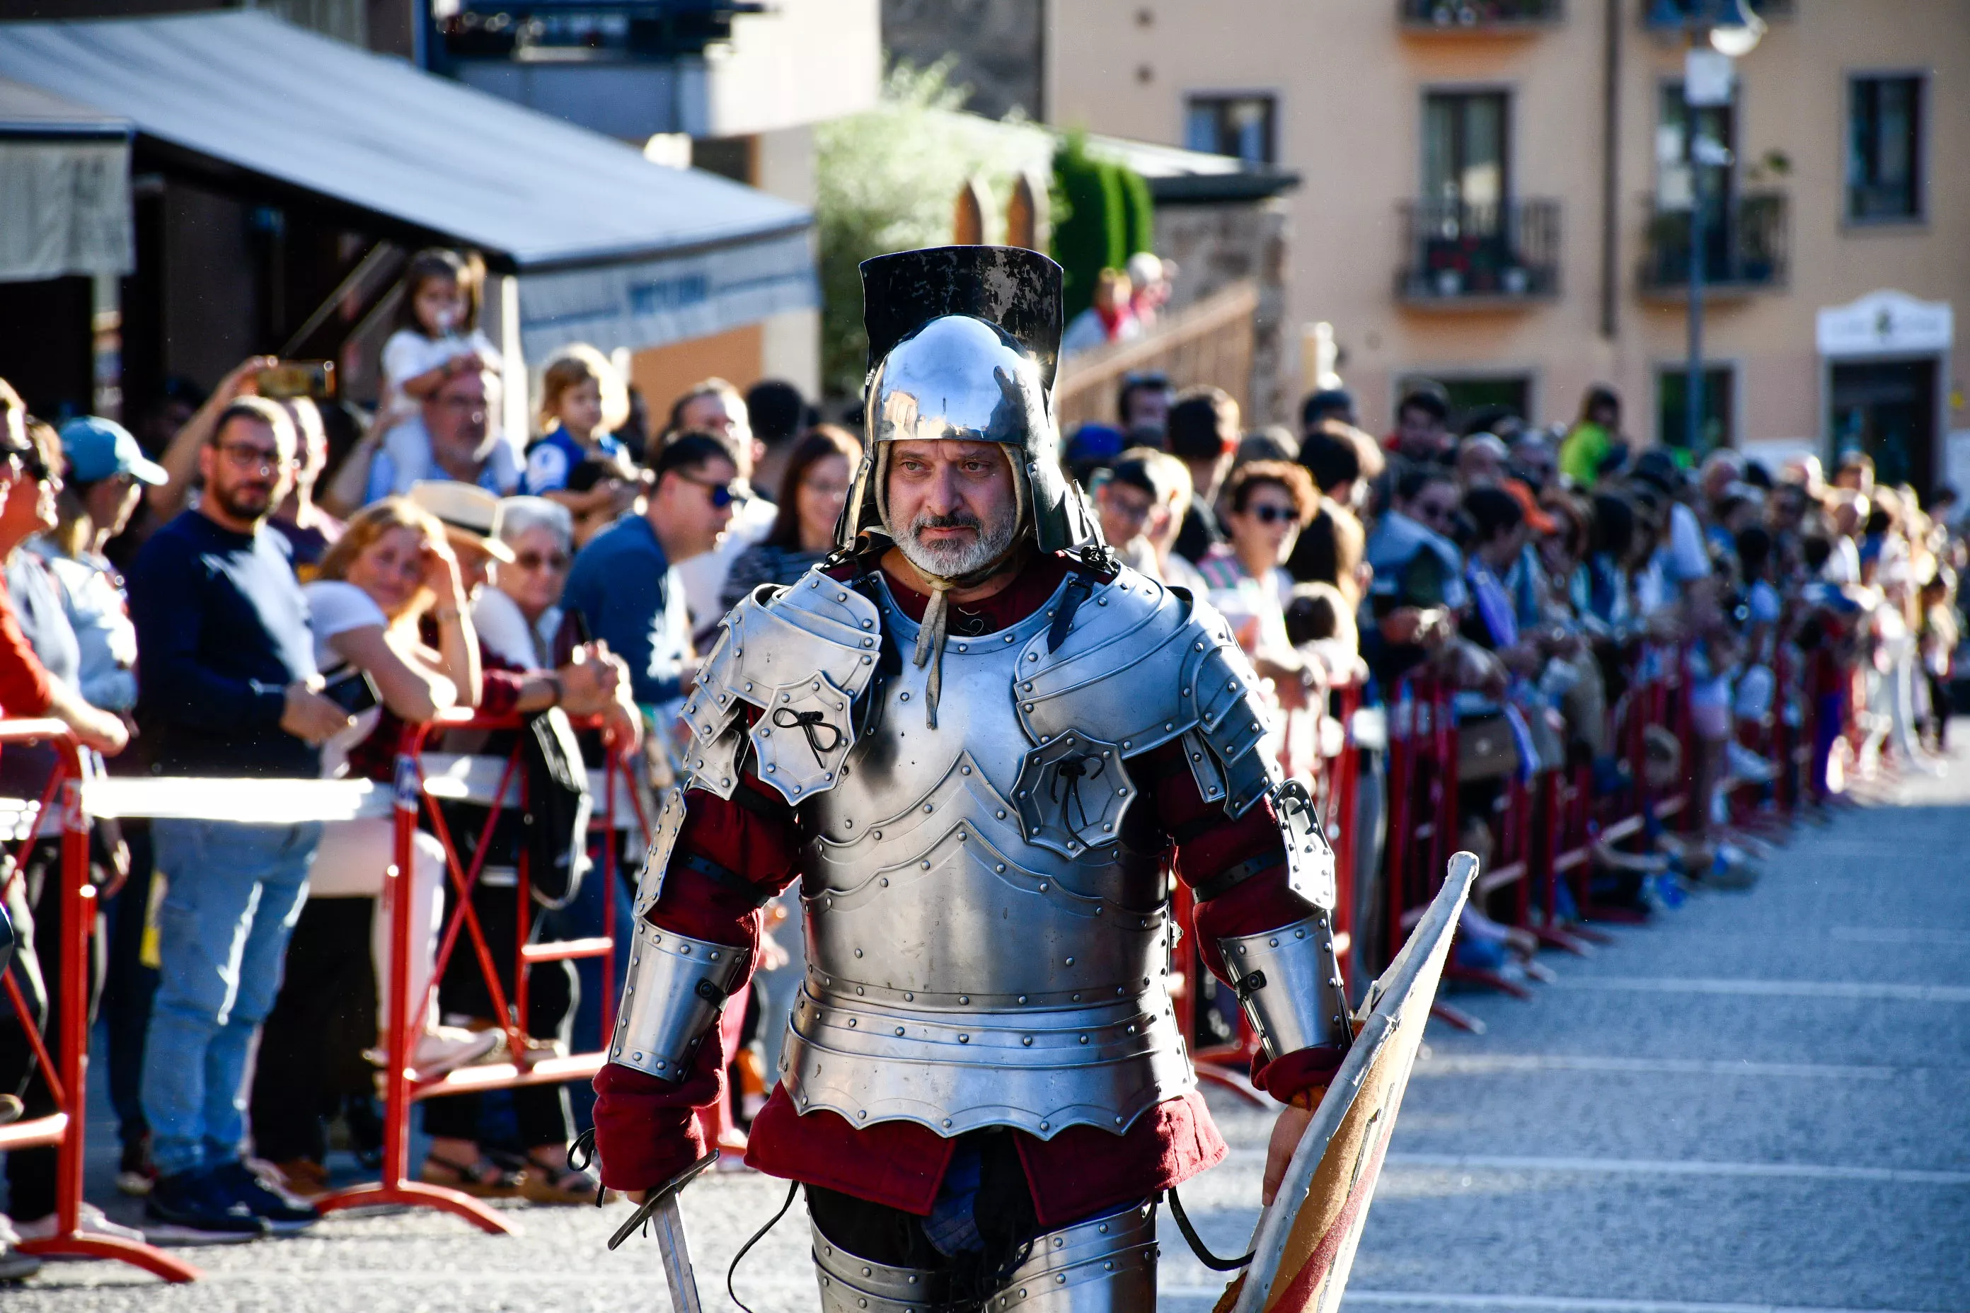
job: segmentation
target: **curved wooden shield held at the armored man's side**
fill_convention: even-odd
[[[1300,1136],[1279,1195],[1259,1215],[1251,1266],[1215,1313],[1338,1313],[1476,874],[1470,852],[1450,858],[1444,888],[1369,990],[1367,1024]]]

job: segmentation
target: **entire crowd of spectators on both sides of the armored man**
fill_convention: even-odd
[[[1160,305],[1141,289],[1168,272],[1113,272],[1084,337],[1127,337]],[[410,262],[372,417],[272,396],[270,358],[205,398],[169,388],[142,437],[102,417],[57,433],[0,384],[4,715],[61,720],[110,772],[388,787],[408,724],[559,709],[636,748],[644,783],[668,783],[707,638],[743,596],[831,549],[861,437],[818,423],[784,382],[741,394],[717,378],[646,431],[642,398],[587,346],[544,364],[534,431],[504,433],[498,398],[526,382],[502,374],[479,301],[471,260]],[[1608,388],[1564,431],[1503,409],[1452,419],[1440,392],[1418,390],[1375,439],[1330,390],[1306,400],[1298,431],[1247,431],[1225,392],[1141,374],[1121,384],[1119,423],[1068,433],[1064,451],[1113,553],[1223,612],[1280,713],[1320,713],[1353,685],[1401,717],[1430,683],[1454,691],[1464,722],[1491,726],[1470,736],[1491,760],[1466,772],[1462,846],[1493,846],[1505,780],[1568,768],[1615,789],[1651,762],[1680,770],[1694,827],[1657,827],[1639,854],[1596,850],[1598,896],[1663,909],[1755,878],[1755,844],[1724,799],[1738,782],[1769,783],[1745,744],[1775,720],[1816,726],[1822,783],[1883,762],[1933,768],[1964,567],[1940,498],[1925,510],[1911,488],[1875,486],[1858,455],[1826,478],[1812,459],[1769,470],[1728,449],[1645,449]],[[1609,713],[1651,661],[1688,679],[1692,762],[1655,738],[1649,762],[1625,762],[1609,740]],[[475,742],[485,750],[485,734]],[[1280,715],[1271,748],[1294,774],[1332,752],[1320,715]],[[1379,756],[1363,752],[1363,833],[1377,829]],[[8,746],[0,791],[35,799],[51,772],[51,756]],[[479,833],[483,815],[449,829]],[[595,882],[518,907],[520,841],[487,827],[479,843],[492,848],[471,906],[508,992],[516,941],[595,935],[611,900],[626,907],[624,888]],[[445,848],[424,831],[412,848],[412,1063],[437,1075],[508,1061],[479,965],[437,963],[459,915]],[[53,1110],[24,1022],[47,1028],[63,1002],[49,984],[59,850],[43,823],[6,872],[35,1016],[0,1020],[0,1118]],[[374,1161],[378,1018],[392,1016],[376,904],[392,860],[386,819],[97,823],[118,1185],[146,1195],[152,1238],[305,1228],[329,1189],[333,1122]],[[1359,860],[1373,870],[1373,844]],[[766,1094],[798,988],[798,898],[772,927],[735,1063],[741,1120]],[[1470,961],[1529,963],[1525,937],[1481,907],[1464,929]],[[565,1051],[611,988],[593,965],[536,965],[522,1030]],[[1227,1000],[1204,1012],[1219,1035],[1235,1026]],[[593,1197],[595,1177],[565,1154],[573,1094],[427,1100],[424,1179]],[[10,1236],[53,1226],[53,1150],[10,1154],[6,1175],[0,1276],[22,1262]],[[93,1207],[83,1224],[128,1234]]]

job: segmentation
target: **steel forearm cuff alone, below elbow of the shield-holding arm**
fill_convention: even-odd
[[[1334,957],[1328,911],[1263,935],[1219,939],[1225,974],[1259,1032],[1265,1061],[1318,1045],[1346,1045],[1347,990]]]

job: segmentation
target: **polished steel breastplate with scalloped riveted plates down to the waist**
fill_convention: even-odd
[[[1007,630],[950,636],[936,728],[928,671],[904,657],[841,778],[804,803],[808,978],[782,1057],[800,1112],[1050,1138],[1121,1132],[1194,1087],[1164,984],[1160,854],[1111,841],[1068,856],[1020,821],[1036,744],[1017,671],[1066,591]],[[886,642],[912,652],[916,622],[881,583],[877,598]],[[1101,815],[1103,791],[1135,785],[1117,760],[1068,787]]]

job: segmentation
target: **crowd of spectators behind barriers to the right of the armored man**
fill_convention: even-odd
[[[1814,457],[1767,469],[1732,449],[1643,447],[1606,386],[1554,429],[1505,407],[1458,417],[1418,388],[1377,439],[1340,390],[1308,396],[1294,435],[1241,429],[1219,390],[1131,376],[1117,417],[1125,437],[1068,435],[1105,537],[1208,596],[1279,711],[1338,705],[1332,689],[1351,683],[1405,724],[1420,689],[1448,691],[1466,730],[1458,846],[1495,850],[1513,778],[1586,772],[1598,793],[1637,772],[1686,782],[1690,825],[1651,821],[1639,852],[1592,854],[1596,902],[1649,913],[1755,882],[1761,846],[1732,825],[1732,799],[1769,801],[1775,766],[1757,746],[1779,720],[1812,726],[1816,795],[1937,770],[1964,537],[1948,490],[1925,510],[1913,488],[1875,486],[1862,453],[1828,478]],[[1690,760],[1663,726],[1645,760],[1625,760],[1611,726],[1665,671],[1686,689]],[[1310,720],[1280,717],[1296,774],[1322,752],[1294,734]],[[1361,758],[1357,833],[1375,833],[1383,762]],[[1379,860],[1365,844],[1363,888]],[[1541,974],[1531,937],[1483,907],[1464,931],[1462,963]]]

